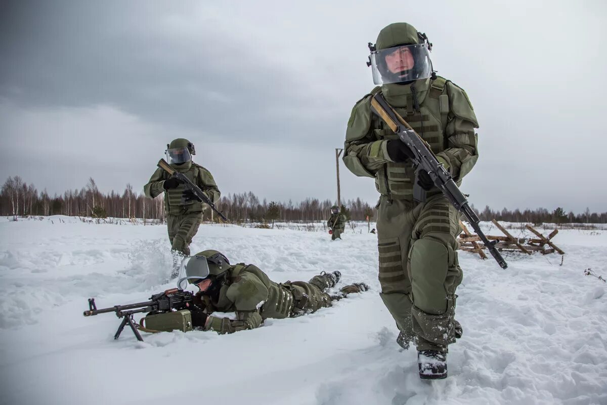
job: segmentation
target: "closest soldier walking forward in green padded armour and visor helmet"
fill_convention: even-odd
[[[354,106],[345,140],[344,163],[358,176],[375,179],[378,202],[381,298],[399,328],[397,341],[415,341],[419,376],[446,378],[447,345],[461,336],[455,321],[455,290],[462,280],[456,250],[459,214],[415,172],[412,151],[375,114],[371,95],[381,92],[459,184],[478,158],[472,104],[463,89],[436,76],[432,44],[410,24],[397,22],[379,33],[368,65],[375,84]],[[426,199],[413,200],[413,188]]]

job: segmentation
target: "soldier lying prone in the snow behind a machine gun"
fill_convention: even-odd
[[[260,327],[268,318],[313,313],[347,294],[368,290],[366,284],[359,283],[328,294],[328,288],[334,287],[340,277],[339,271],[323,272],[309,282],[276,283],[256,265],[230,265],[219,251],[205,250],[183,260],[177,285],[183,289],[187,281],[200,288],[190,308],[192,325],[223,334]],[[217,312],[235,315],[214,315]]]

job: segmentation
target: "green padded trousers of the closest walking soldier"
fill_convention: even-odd
[[[459,213],[442,196],[415,205],[381,196],[378,206],[380,296],[418,350],[455,342],[455,290],[463,273]]]

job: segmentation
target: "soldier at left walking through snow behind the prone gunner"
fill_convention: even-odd
[[[192,155],[196,154],[194,144],[187,139],[177,138],[166,149],[166,158],[169,165],[176,171],[188,176],[206,194],[213,203],[220,197],[219,188],[207,169],[192,162]],[[173,272],[171,277],[177,276],[179,264],[184,256],[189,256],[189,244],[198,231],[202,221],[202,211],[206,204],[198,200],[194,194],[180,184],[178,179],[170,177],[161,168],[156,169],[148,184],[143,186],[146,197],[151,199],[164,192],[164,208],[166,209],[166,222],[171,241],[173,254]]]

